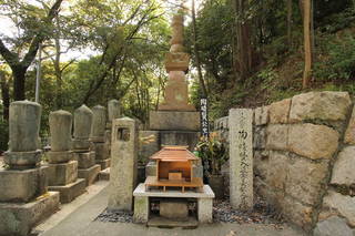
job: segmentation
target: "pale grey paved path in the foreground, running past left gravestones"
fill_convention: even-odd
[[[98,182],[89,187],[89,194],[92,197],[83,203],[85,196],[79,197],[71,204],[65,204],[63,208],[54,214],[51,218],[37,227],[37,230],[43,230],[39,236],[302,236],[303,233],[284,226],[283,229],[276,229],[271,225],[261,224],[211,224],[202,225],[196,229],[165,229],[145,227],[144,225],[136,225],[131,223],[103,223],[94,222],[97,216],[104,211],[108,205],[109,189],[108,182]],[[99,186],[98,186],[99,185]],[[91,191],[91,188],[95,188]],[[99,192],[99,191],[100,192]],[[102,189],[102,191],[101,191]],[[99,192],[99,193],[98,193]],[[87,196],[89,198],[90,196]],[[81,202],[81,203],[80,203]],[[75,211],[70,214],[63,214],[62,211],[69,212],[72,205],[80,205]],[[62,214],[62,220],[53,219],[55,215]],[[58,218],[58,216],[57,216]]]

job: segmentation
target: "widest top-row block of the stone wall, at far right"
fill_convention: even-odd
[[[347,92],[310,92],[292,99],[290,122],[344,121],[352,104]]]

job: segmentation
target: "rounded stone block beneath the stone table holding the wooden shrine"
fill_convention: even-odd
[[[162,217],[175,219],[175,220],[186,220],[189,216],[189,207],[186,199],[179,201],[161,201],[159,205],[159,214]]]

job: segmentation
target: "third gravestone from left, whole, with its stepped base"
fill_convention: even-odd
[[[78,161],[78,176],[85,178],[87,186],[97,181],[101,170],[101,166],[95,164],[95,152],[90,150],[92,116],[92,111],[85,105],[74,112],[74,160]]]

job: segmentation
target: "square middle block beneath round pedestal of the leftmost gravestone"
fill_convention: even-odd
[[[47,168],[0,170],[0,202],[26,203],[45,193]]]

